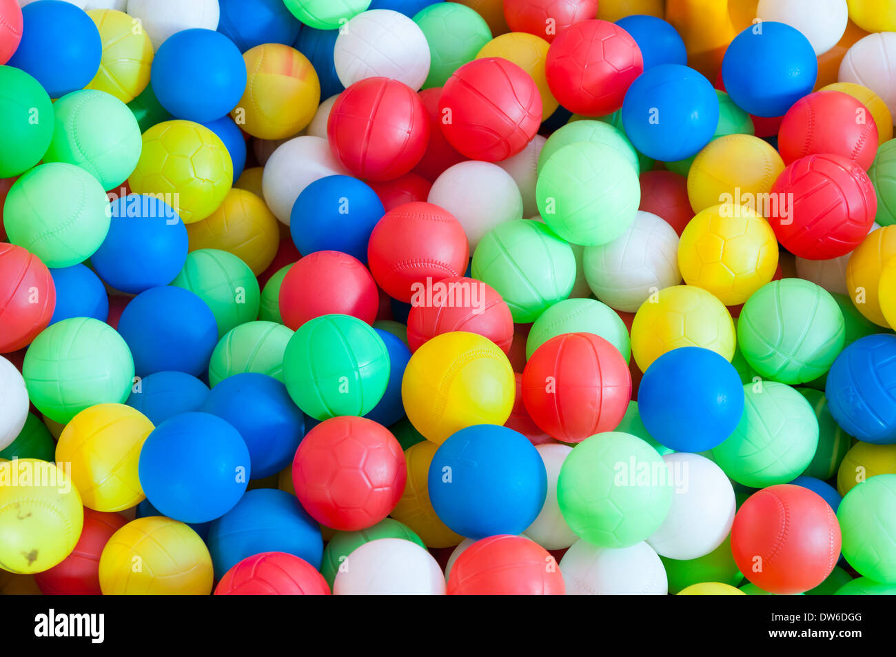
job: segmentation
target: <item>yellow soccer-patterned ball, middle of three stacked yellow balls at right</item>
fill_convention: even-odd
[[[678,267],[688,285],[737,306],[775,275],[778,240],[769,222],[745,205],[713,205],[685,226]]]

